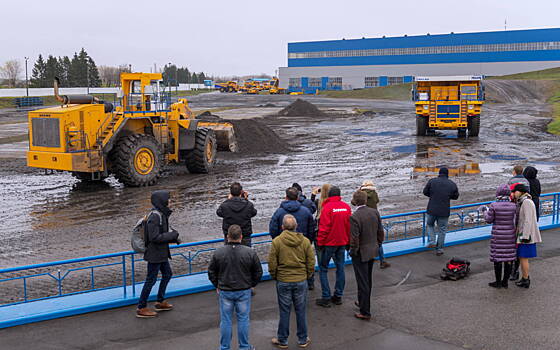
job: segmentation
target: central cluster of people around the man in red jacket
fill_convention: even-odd
[[[268,256],[268,272],[276,281],[279,323],[272,344],[288,347],[290,314],[296,314],[297,340],[301,348],[310,343],[307,331],[308,291],[315,288],[315,264],[319,266],[322,307],[341,305],[346,283],[344,262],[346,252],[358,282],[359,312],[355,317],[371,319],[370,299],[374,258],[380,257],[382,268],[389,267],[383,259],[385,238],[381,216],[377,211],[379,196],[371,181],[366,181],[353,194],[352,205],[341,198],[340,188],[325,184],[314,188],[311,197],[294,183],[286,189],[285,199],[272,215],[269,233],[272,244]],[[216,250],[208,276],[220,294],[221,348],[229,349],[231,318],[236,311],[240,349],[252,349],[248,341],[251,290],[262,275],[260,261],[251,246],[251,218],[257,211],[239,183],[230,186],[228,199],[217,215],[223,219],[225,246]],[[243,238],[242,238],[243,237]],[[334,291],[328,278],[328,267],[336,266]]]

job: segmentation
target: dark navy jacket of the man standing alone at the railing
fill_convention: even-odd
[[[459,199],[459,189],[455,182],[448,179],[447,169],[442,168],[438,177],[430,179],[424,187],[424,196],[430,197],[427,212],[429,215],[446,217],[451,211],[451,200]]]

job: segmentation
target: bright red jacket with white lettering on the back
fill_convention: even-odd
[[[323,202],[319,219],[318,246],[346,246],[350,244],[350,216],[352,210],[339,196]]]

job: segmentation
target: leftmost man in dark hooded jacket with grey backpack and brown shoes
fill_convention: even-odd
[[[168,311],[173,309],[173,305],[165,300],[165,290],[167,284],[173,275],[169,259],[171,253],[169,251],[169,243],[180,243],[179,233],[169,227],[169,216],[172,211],[169,209],[169,192],[155,191],[152,193],[152,211],[146,218],[144,232],[144,241],[146,243],[146,252],[144,260],[148,262],[148,274],[146,282],[140,293],[138,301],[138,309],[136,317],[150,318],[157,316],[155,311]],[[157,303],[155,311],[147,308],[148,297],[152,291],[152,287],[157,281],[158,272],[161,271],[161,282],[157,295]]]

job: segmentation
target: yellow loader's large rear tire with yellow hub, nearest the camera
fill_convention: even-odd
[[[109,156],[109,169],[126,186],[154,185],[163,172],[165,158],[160,144],[150,135],[123,136]]]

